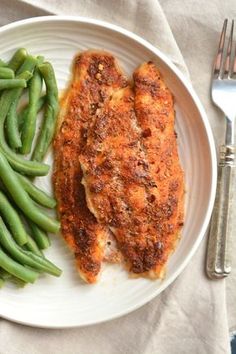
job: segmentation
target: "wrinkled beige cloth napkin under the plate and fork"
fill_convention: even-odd
[[[79,15],[115,23],[142,36],[187,76],[188,67],[215,137],[223,141],[223,120],[210,102],[209,83],[223,19],[236,17],[235,0],[0,0],[0,9],[0,25],[34,16]],[[168,289],[117,320],[48,330],[0,319],[0,354],[230,353],[225,282],[206,278],[205,250],[206,238]],[[234,274],[232,284],[233,280],[236,284]],[[227,284],[230,310],[235,303],[231,283]],[[230,321],[236,324],[236,314]]]

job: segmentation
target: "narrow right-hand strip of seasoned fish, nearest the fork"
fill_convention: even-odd
[[[163,252],[154,272],[161,271],[179,239],[184,218],[184,173],[174,130],[173,97],[152,62],[134,72],[135,113],[142,129],[150,173],[156,183],[154,219]]]

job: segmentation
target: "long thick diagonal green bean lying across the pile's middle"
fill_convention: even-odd
[[[0,177],[10,193],[16,205],[23,211],[23,213],[32,220],[36,225],[45,231],[57,233],[60,229],[60,223],[51,219],[38,208],[27,192],[23,189],[16,173],[12,170],[7,159],[0,153]]]

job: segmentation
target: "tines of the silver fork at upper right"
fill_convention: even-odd
[[[233,40],[234,20],[232,20],[228,45],[226,43],[228,20],[224,20],[223,29],[220,36],[219,49],[215,59],[213,75],[215,78],[232,78],[236,75],[236,47]]]

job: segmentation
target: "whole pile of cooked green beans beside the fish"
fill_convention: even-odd
[[[26,95],[28,103],[22,107]],[[56,78],[44,57],[20,48],[8,62],[0,59],[0,288],[6,281],[22,287],[42,273],[61,274],[42,252],[51,244],[48,232],[60,229],[46,210],[54,209],[56,200],[29,179],[49,172],[42,161],[54,136],[57,112]]]

